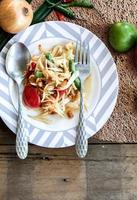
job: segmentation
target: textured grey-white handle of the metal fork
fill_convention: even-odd
[[[83,92],[82,89],[80,91],[80,113],[79,113],[79,123],[77,128],[77,136],[76,136],[76,152],[80,158],[84,158],[87,154],[88,150],[88,140],[86,138],[85,131],[85,120],[84,120],[84,100],[83,100]]]

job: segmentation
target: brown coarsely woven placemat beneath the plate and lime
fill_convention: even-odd
[[[34,9],[41,3],[35,0]],[[68,20],[95,33],[109,48],[119,74],[120,90],[117,105],[105,126],[91,140],[105,142],[137,142],[137,66],[134,65],[133,50],[126,54],[114,52],[107,41],[111,23],[128,21],[137,25],[135,0],[94,0],[95,9],[74,8],[77,20]],[[83,20],[82,20],[83,19]],[[52,13],[46,20],[57,20]]]

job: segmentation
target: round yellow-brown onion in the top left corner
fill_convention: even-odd
[[[25,0],[0,0],[0,27],[9,33],[27,28],[33,19],[31,5]]]

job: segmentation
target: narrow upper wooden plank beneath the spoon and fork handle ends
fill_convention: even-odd
[[[84,160],[102,161],[103,159],[118,160],[122,158],[137,158],[136,144],[90,144]],[[0,145],[0,160],[17,159],[14,145]],[[74,146],[68,148],[43,148],[29,145],[28,160],[79,160]]]

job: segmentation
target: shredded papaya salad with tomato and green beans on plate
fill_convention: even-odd
[[[80,79],[75,68],[75,44],[56,45],[51,50],[38,46],[25,71],[23,100],[29,108],[39,108],[36,119],[49,115],[72,118],[79,109]]]

